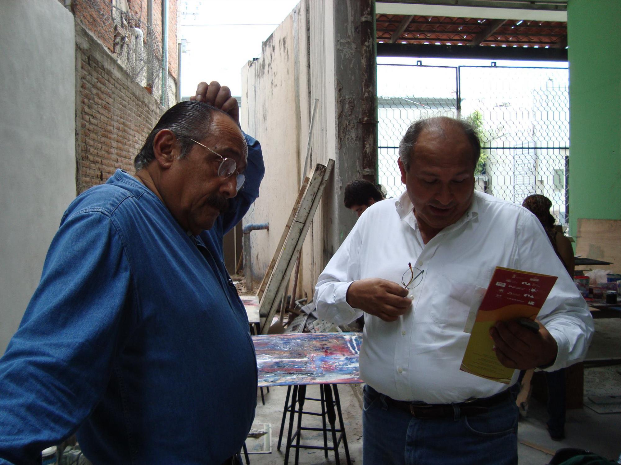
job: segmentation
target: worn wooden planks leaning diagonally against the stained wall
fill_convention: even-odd
[[[276,309],[280,306],[280,299],[288,286],[291,272],[296,263],[297,254],[302,249],[306,233],[311,227],[317,206],[324,193],[325,185],[334,167],[334,160],[330,159],[327,165],[320,163],[315,166],[310,180],[305,179],[297,196],[296,203],[289,215],[289,221],[274,258],[259,286],[259,316],[261,319],[261,334],[267,334]]]

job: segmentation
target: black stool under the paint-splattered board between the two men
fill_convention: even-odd
[[[291,395],[291,387],[293,387],[293,393]],[[289,432],[287,435],[286,441],[286,449],[284,454],[284,464],[287,465],[289,463],[289,451],[291,448],[296,449],[296,461],[295,464],[298,464],[299,461],[299,451],[300,449],[320,449],[324,451],[325,458],[328,457],[328,451],[334,451],[334,457],[337,465],[340,464],[340,458],[338,456],[338,446],[341,441],[343,441],[343,446],[345,447],[345,458],[347,459],[347,464],[351,465],[351,459],[349,454],[349,448],[347,447],[347,436],[345,435],[345,426],[343,423],[343,415],[341,412],[341,402],[338,397],[338,389],[336,384],[320,384],[319,385],[320,399],[314,399],[312,397],[306,397],[306,385],[301,386],[289,386],[287,389],[287,396],[284,401],[284,410],[283,410],[283,420],[281,422],[280,433],[278,436],[278,447],[280,450],[280,446],[283,440],[283,431],[284,431],[284,420],[286,418],[287,412],[289,412]],[[291,396],[291,405],[289,405],[289,396]],[[305,401],[317,401],[321,404],[321,413],[318,412],[307,412],[304,410],[304,402]],[[296,409],[297,402],[297,409]],[[336,407],[336,409],[334,408]],[[293,423],[294,423],[294,414],[297,413],[297,428],[296,432],[293,432]],[[338,422],[340,428],[336,428],[336,417],[338,414]],[[302,415],[315,415],[322,417],[322,428],[311,428],[311,427],[302,427]],[[329,427],[326,427],[326,417],[328,418],[328,422],[330,423]],[[300,436],[302,430],[306,431],[322,431],[324,433],[324,445],[323,446],[311,446],[311,445],[301,445],[300,444]],[[332,446],[328,446],[328,438],[327,433],[332,433]],[[338,436],[337,436],[337,433]],[[296,441],[293,444],[293,441]]]

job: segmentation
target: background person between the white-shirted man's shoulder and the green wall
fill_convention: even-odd
[[[522,206],[537,216],[543,226],[550,243],[561,260],[563,266],[574,277],[574,249],[563,232],[555,228],[556,219],[550,213],[552,202],[545,195],[529,195],[522,201]],[[561,441],[565,438],[565,404],[566,404],[566,370],[546,371],[545,379],[548,385],[548,415],[546,423],[550,438]]]

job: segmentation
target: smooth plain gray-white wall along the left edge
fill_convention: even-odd
[[[57,0],[0,1],[0,355],[76,195],[73,21]]]

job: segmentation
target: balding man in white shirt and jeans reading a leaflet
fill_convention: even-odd
[[[519,370],[582,360],[591,340],[586,303],[537,218],[474,192],[480,152],[459,120],[410,126],[398,161],[406,192],[365,211],[317,282],[321,318],[365,316],[365,465],[517,463],[513,389],[460,371],[466,319],[495,267],[558,277],[538,332],[491,329],[499,360],[516,369],[510,386]]]

